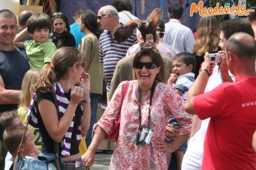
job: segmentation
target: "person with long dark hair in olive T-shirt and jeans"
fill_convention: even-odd
[[[103,65],[99,62],[99,38],[103,30],[97,23],[97,15],[91,10],[85,10],[80,17],[80,31],[85,33],[78,47],[85,55],[84,71],[91,77],[91,122],[89,130],[85,137],[86,146],[91,144],[92,127],[97,122],[98,96],[102,94],[103,89]]]

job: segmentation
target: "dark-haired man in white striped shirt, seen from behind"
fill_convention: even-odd
[[[191,29],[181,24],[183,19],[182,5],[176,3],[169,6],[168,18],[170,21],[165,24],[164,42],[180,53],[191,53],[195,39]]]

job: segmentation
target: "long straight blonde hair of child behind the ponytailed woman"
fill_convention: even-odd
[[[38,81],[41,70],[31,69],[28,70],[24,75],[22,85],[21,85],[21,94],[20,94],[20,103],[19,108],[22,110],[29,107],[30,101],[33,97],[34,91],[32,85]]]

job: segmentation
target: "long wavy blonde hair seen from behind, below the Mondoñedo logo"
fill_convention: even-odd
[[[215,16],[202,16],[197,24],[197,40],[192,54],[203,56],[218,50],[220,27]]]

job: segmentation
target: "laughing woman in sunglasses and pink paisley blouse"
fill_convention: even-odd
[[[168,146],[173,152],[187,139],[192,116],[185,113],[184,100],[174,88],[165,84],[164,61],[159,53],[151,48],[139,51],[134,57],[133,69],[135,80],[129,82],[123,103],[126,81],[119,84],[95,125],[97,130],[82,158],[94,162],[97,146],[112,133],[114,122],[121,114],[119,136],[109,169],[167,169],[166,154],[158,149],[158,144],[165,138],[169,117],[173,114],[183,127],[176,142]]]

